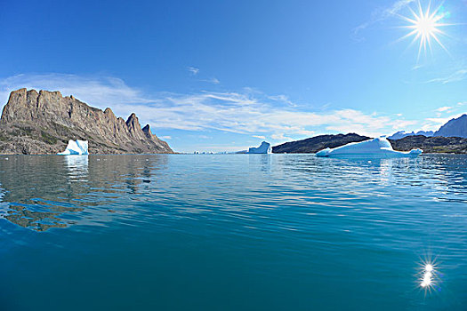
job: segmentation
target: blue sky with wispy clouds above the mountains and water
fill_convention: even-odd
[[[135,112],[181,152],[436,130],[467,112],[467,1],[439,9],[447,51],[420,56],[399,40],[417,5],[4,0],[0,107],[20,87],[59,90]]]

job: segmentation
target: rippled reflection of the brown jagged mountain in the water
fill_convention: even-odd
[[[8,159],[8,160],[5,160]],[[105,223],[112,209],[99,209],[122,192],[136,194],[148,184],[166,156],[10,156],[2,159],[4,218],[44,231],[80,223]],[[0,191],[2,193],[2,191]]]

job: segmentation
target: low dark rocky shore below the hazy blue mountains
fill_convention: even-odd
[[[420,148],[424,153],[467,154],[467,139],[461,137],[426,137],[423,135],[407,136],[400,140],[390,140],[392,148],[409,151]]]

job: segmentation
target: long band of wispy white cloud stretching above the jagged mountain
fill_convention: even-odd
[[[253,89],[241,92],[189,94],[143,92],[109,76],[19,75],[0,79],[0,100],[21,87],[59,90],[97,108],[110,107],[117,116],[135,112],[141,124],[152,128],[187,131],[223,131],[267,136],[273,140],[304,138],[323,132],[387,134],[415,121],[393,120],[356,109],[309,111],[294,107],[285,97]],[[290,103],[288,102],[290,101]]]

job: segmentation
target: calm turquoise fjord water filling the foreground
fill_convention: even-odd
[[[467,309],[467,156],[0,156],[0,213],[1,310]]]

